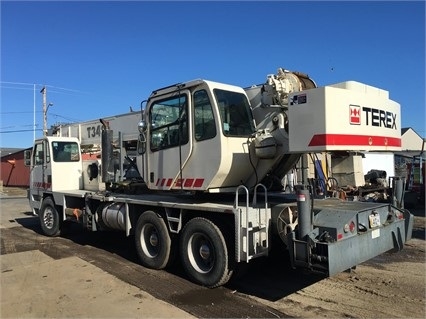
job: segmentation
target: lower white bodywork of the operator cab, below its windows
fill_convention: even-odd
[[[220,143],[220,139],[226,141]],[[217,135],[214,140],[190,142],[182,146],[182,173],[179,171],[179,148],[174,147],[151,154],[148,172],[158,172],[150,189],[201,190],[236,187],[252,170],[248,159],[247,139]],[[193,151],[190,152],[190,146]],[[233,151],[230,152],[229,150]],[[173,159],[173,161],[170,161]]]

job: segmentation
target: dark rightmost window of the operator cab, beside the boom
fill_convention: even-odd
[[[255,132],[247,97],[242,93],[214,89],[225,136],[248,137]]]

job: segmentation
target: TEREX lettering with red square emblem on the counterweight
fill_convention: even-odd
[[[389,111],[374,109],[371,107],[362,107],[362,115],[365,118],[365,125],[386,127],[390,129],[397,129],[396,127],[396,114]],[[349,123],[351,125],[361,124],[361,106],[349,105]]]

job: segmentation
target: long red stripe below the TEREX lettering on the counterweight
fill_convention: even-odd
[[[387,136],[316,134],[309,146],[352,145],[352,146],[392,146],[401,147],[401,139]]]

